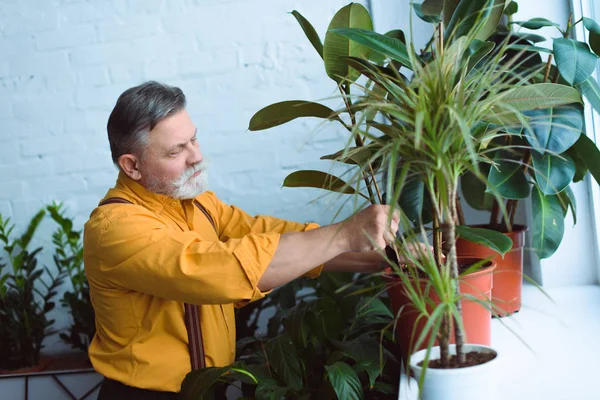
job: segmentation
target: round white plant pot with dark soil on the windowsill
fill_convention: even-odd
[[[433,369],[425,371],[421,400],[493,400],[499,384],[499,365],[502,359],[488,346],[465,344],[465,352],[494,353],[496,358],[466,368]],[[423,369],[417,364],[425,359],[427,350],[420,350],[410,357],[410,368],[419,381]],[[450,354],[456,354],[456,346],[450,345]],[[430,360],[440,357],[440,347],[431,349]]]

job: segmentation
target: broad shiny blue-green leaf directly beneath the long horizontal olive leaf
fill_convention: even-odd
[[[532,110],[525,113],[530,117],[531,129],[525,129],[527,141],[544,154],[561,154],[573,146],[583,127],[581,107],[563,106]]]

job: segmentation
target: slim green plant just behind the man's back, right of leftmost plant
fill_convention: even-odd
[[[67,290],[60,300],[69,309],[73,324],[69,333],[60,333],[60,338],[73,348],[87,351],[94,334],[96,323],[94,308],[90,301],[90,286],[83,269],[83,243],[81,231],[73,229],[73,220],[65,215],[62,204],[52,203],[47,207],[50,217],[58,224],[52,234],[55,246],[54,263],[69,277],[73,287]]]

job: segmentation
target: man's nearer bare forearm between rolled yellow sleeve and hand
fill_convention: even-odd
[[[262,291],[286,284],[349,251],[339,225],[281,235],[271,263],[258,281]]]

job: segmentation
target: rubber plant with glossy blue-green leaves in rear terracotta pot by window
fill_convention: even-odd
[[[575,88],[586,97],[596,111],[600,102],[595,93],[598,83],[592,77],[598,57],[584,42],[570,39],[572,29],[583,23],[589,30],[590,44],[600,35],[600,27],[592,20],[583,18],[574,22],[569,17],[564,30],[560,25],[544,18],[529,21],[512,21],[518,9],[511,2],[505,14],[507,26],[501,26],[493,39],[511,39],[512,51],[520,51],[524,60],[520,73],[528,75],[531,84],[559,82]],[[535,44],[546,40],[543,36],[514,32],[515,25],[536,30],[554,27],[559,37],[553,39],[551,49]],[[594,46],[592,46],[594,49]],[[598,47],[594,49],[600,51]],[[542,61],[540,53],[547,53]],[[513,247],[505,257],[495,257],[497,268],[494,276],[492,296],[494,308],[499,316],[509,315],[521,308],[523,280],[523,248],[528,227],[515,225],[515,215],[520,200],[531,199],[533,225],[533,249],[540,259],[548,258],[560,246],[564,234],[564,218],[569,208],[576,223],[576,201],[570,184],[584,179],[588,170],[596,182],[600,182],[597,147],[585,135],[583,107],[566,105],[540,109],[527,113],[528,126],[516,126],[524,143],[511,146],[510,152],[500,149],[490,152],[490,157],[501,159],[488,172],[489,184],[495,186],[500,199],[486,194],[489,187],[473,179],[470,174],[461,178],[463,198],[473,208],[487,210],[489,223],[480,225],[502,232],[513,241]],[[509,145],[515,138],[507,135],[499,143]],[[513,143],[515,144],[515,143]],[[502,154],[504,153],[504,154]],[[555,221],[555,223],[549,223]],[[464,224],[464,221],[461,221]],[[490,257],[488,248],[460,238],[457,242],[459,255]]]

